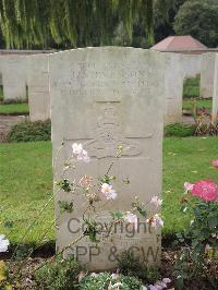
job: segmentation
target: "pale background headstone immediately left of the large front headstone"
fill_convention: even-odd
[[[48,55],[35,55],[28,60],[28,105],[31,121],[50,119]]]

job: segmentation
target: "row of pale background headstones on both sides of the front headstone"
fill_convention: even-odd
[[[213,97],[215,86],[215,56],[165,55],[165,124],[182,121],[182,94],[185,77],[201,74],[199,95]],[[32,121],[50,119],[50,95],[48,82],[48,55],[2,56],[0,72],[4,98],[28,96]],[[214,102],[215,104],[215,102]],[[213,111],[216,110],[216,107]]]

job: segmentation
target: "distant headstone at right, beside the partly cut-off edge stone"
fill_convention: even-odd
[[[216,53],[202,55],[202,72],[199,95],[202,98],[210,98],[214,92],[215,75],[215,57]]]

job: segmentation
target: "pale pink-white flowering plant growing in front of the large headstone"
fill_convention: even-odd
[[[118,146],[116,158],[119,158],[121,154],[122,146]],[[85,174],[81,177],[75,173],[76,165],[78,162],[88,164],[90,158],[88,153],[84,149],[84,146],[77,143],[72,144],[72,155],[64,162],[62,179],[56,182],[58,191],[61,190],[66,193],[66,198],[60,196],[60,200],[58,201],[60,214],[63,214],[64,212],[73,213],[74,208],[78,207],[76,205],[76,196],[82,196],[85,204],[85,210],[82,213],[83,222],[85,225],[82,229],[83,232],[81,237],[75,239],[75,241],[65,245],[61,250],[61,253],[77,243],[84,237],[88,237],[92,242],[99,242],[104,229],[101,227],[102,225],[99,225],[97,217],[99,217],[100,209],[106,208],[109,203],[114,202],[119,195],[114,185],[117,177],[111,176],[110,173],[113,162],[109,164],[107,172],[99,177],[97,182],[95,182],[95,179],[92,176]],[[68,172],[69,169],[73,169],[75,176],[72,177],[72,174]],[[130,180],[124,179],[123,183],[129,184]],[[147,204],[150,204],[154,210],[152,214],[148,214],[146,209],[147,204],[141,203],[137,196],[135,196],[132,201],[131,208],[126,212],[110,212],[111,219],[107,221],[109,225],[107,227],[111,228],[110,225],[116,223],[131,223],[134,230],[136,230],[138,216],[145,218],[145,222],[148,227],[162,227],[164,221],[157,213],[161,203],[162,201],[158,196],[153,196]]]

